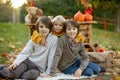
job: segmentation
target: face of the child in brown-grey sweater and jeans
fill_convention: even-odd
[[[66,33],[67,35],[70,37],[70,39],[74,39],[77,35],[77,31],[78,29],[70,24],[67,25],[67,28],[66,28]]]

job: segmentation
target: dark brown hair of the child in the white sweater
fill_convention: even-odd
[[[43,23],[46,26],[46,28],[48,28],[50,31],[52,30],[53,25],[52,25],[51,20],[47,16],[41,16],[39,18],[39,21],[38,21],[38,24],[37,24],[37,27],[36,27],[38,32],[39,32],[38,27],[39,27],[40,22]]]

